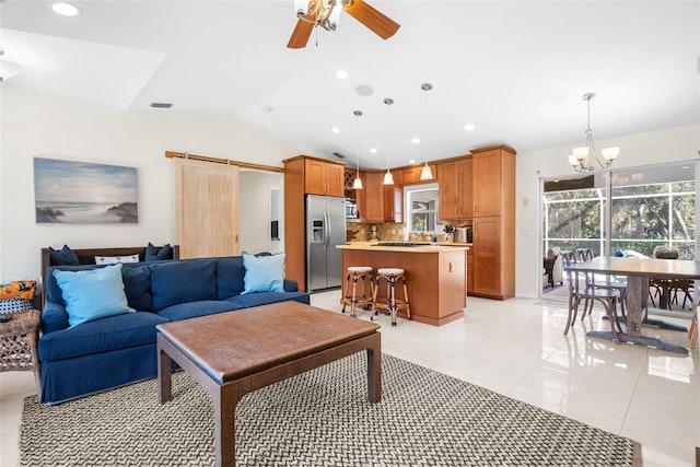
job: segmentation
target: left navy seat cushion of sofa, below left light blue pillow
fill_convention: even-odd
[[[39,360],[55,361],[154,343],[155,326],[167,322],[154,313],[136,312],[45,334],[39,339]]]

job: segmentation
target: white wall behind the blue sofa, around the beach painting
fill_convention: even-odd
[[[122,110],[0,84],[0,282],[39,276],[39,248],[173,243],[166,150],[282,166],[299,150],[229,115]],[[138,224],[35,222],[34,157],[137,167]]]

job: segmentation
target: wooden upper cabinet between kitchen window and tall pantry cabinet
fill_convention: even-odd
[[[439,163],[438,184],[440,219],[471,219],[474,215],[471,156]]]

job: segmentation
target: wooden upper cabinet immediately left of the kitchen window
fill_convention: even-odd
[[[364,189],[358,190],[358,211],[362,222],[402,222],[404,190],[384,185],[384,172],[361,173]]]

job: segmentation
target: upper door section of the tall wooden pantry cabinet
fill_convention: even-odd
[[[515,212],[515,151],[497,145],[471,150],[471,154],[474,217]]]

